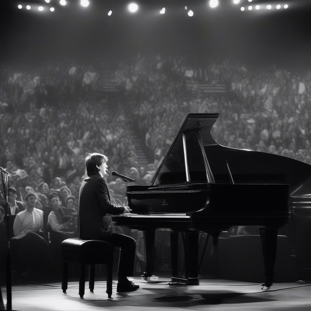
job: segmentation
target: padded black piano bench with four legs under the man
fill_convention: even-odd
[[[95,264],[107,264],[107,290],[108,297],[112,294],[112,265],[114,246],[109,242],[100,240],[66,239],[61,244],[63,257],[62,290],[66,293],[68,285],[68,262],[80,264],[79,295],[83,298],[85,289],[85,265],[90,265],[89,288],[94,291]]]

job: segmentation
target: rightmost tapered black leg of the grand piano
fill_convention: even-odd
[[[272,286],[274,280],[277,230],[278,228],[259,228],[265,266],[265,282],[262,285],[267,288]]]

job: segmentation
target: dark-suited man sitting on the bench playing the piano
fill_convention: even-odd
[[[116,206],[110,195],[104,176],[107,174],[107,156],[91,153],[85,159],[86,174],[79,192],[79,238],[103,240],[120,247],[117,292],[137,290],[139,285],[127,279],[132,276],[136,241],[129,236],[113,232],[111,214],[129,213],[128,206]]]

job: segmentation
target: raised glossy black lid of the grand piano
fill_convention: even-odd
[[[188,114],[151,185],[230,183],[228,163],[234,183],[285,183],[290,184],[291,196],[311,195],[311,165],[285,156],[219,145],[211,135],[218,116]]]

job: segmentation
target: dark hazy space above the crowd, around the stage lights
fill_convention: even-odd
[[[101,55],[125,58],[143,54],[178,53],[188,57],[234,58],[243,62],[281,63],[305,66],[310,63],[309,16],[306,1],[265,2],[220,0],[216,9],[207,1],[141,1],[136,14],[125,1],[90,0],[36,2],[2,1],[1,58],[10,62],[46,59],[79,59]],[[55,12],[27,11],[18,4],[55,7]],[[248,5],[284,5],[288,9],[248,11]],[[184,6],[194,12],[187,15]],[[240,11],[245,6],[244,12]],[[166,8],[164,15],[159,11]],[[113,10],[112,16],[107,12]]]

